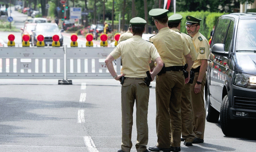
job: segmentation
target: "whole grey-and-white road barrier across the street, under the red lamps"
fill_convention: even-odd
[[[113,78],[104,60],[114,47],[0,47],[0,79]],[[114,63],[117,73],[121,59]]]

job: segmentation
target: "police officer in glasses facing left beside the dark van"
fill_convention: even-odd
[[[206,82],[207,60],[210,54],[207,39],[199,32],[200,21],[192,16],[187,16],[187,32],[195,43],[195,50],[199,53],[191,71],[195,72],[193,84],[191,85],[191,104],[194,117],[193,131],[195,139],[193,143],[204,142],[205,107],[204,107],[204,85]]]

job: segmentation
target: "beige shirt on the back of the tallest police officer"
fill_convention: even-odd
[[[180,32],[170,30],[168,27],[159,30],[150,41],[155,45],[165,67],[182,66],[183,56],[190,52]]]

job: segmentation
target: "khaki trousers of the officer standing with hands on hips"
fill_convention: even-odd
[[[149,87],[142,78],[127,78],[121,89],[122,143],[121,149],[132,148],[133,106],[136,101],[137,152],[144,152],[148,145],[148,100]]]

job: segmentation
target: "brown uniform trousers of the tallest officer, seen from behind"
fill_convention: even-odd
[[[170,148],[170,143],[173,147],[180,147],[180,102],[184,83],[182,71],[167,71],[156,77],[156,133],[159,148]]]

